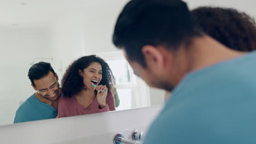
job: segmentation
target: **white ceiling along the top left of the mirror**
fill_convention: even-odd
[[[69,11],[111,10],[127,0],[0,0],[0,28],[45,27]]]

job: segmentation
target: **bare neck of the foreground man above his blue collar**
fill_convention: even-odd
[[[236,58],[244,55],[246,52],[240,52],[230,49],[219,43],[217,40],[205,35],[203,37],[193,39],[192,43],[188,47],[183,47],[174,53],[176,55],[174,59],[174,68],[166,71],[176,69],[174,77],[169,81],[172,86],[177,86],[185,75],[192,71],[200,70],[211,65]],[[169,60],[170,62],[173,59]],[[168,74],[166,74],[166,77]]]

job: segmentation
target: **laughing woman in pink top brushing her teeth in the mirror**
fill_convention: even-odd
[[[114,96],[109,91],[115,78],[103,59],[95,55],[80,57],[69,65],[61,83],[60,117],[115,110]]]

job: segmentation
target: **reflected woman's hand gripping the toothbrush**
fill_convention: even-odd
[[[106,98],[108,94],[108,88],[106,86],[98,85],[96,87],[96,90],[97,90],[98,104],[101,106],[101,108],[103,108],[107,105]]]

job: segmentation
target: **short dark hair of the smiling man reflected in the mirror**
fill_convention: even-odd
[[[36,85],[34,85],[34,80],[42,79],[44,76],[48,75],[50,71],[53,72],[54,76],[56,75],[50,63],[38,62],[30,67],[27,76],[30,79],[32,85],[36,87]]]

